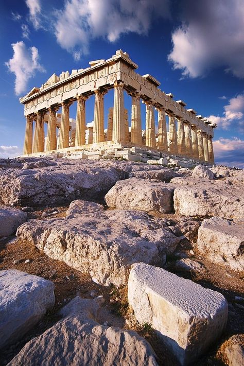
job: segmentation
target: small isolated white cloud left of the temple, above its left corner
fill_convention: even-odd
[[[28,80],[37,71],[44,72],[44,68],[39,64],[38,49],[36,47],[26,48],[23,41],[12,44],[13,58],[6,62],[9,71],[15,74],[15,94],[20,95],[26,91]]]

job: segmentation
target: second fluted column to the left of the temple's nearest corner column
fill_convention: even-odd
[[[75,146],[85,145],[85,100],[87,98],[83,95],[77,97],[76,110],[76,133]]]

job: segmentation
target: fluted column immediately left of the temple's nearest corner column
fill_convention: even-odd
[[[94,124],[93,124],[93,144],[104,141],[104,92],[95,90]]]

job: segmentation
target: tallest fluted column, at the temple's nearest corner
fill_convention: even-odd
[[[114,83],[113,141],[125,141],[124,84]]]

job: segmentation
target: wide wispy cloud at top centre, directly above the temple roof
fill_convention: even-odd
[[[123,33],[147,34],[155,18],[169,17],[169,0],[67,0],[56,16],[58,43],[79,60],[94,38],[114,42]]]

